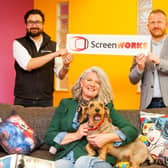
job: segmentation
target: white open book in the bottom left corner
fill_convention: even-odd
[[[54,168],[54,161],[11,154],[0,158],[0,168]]]

